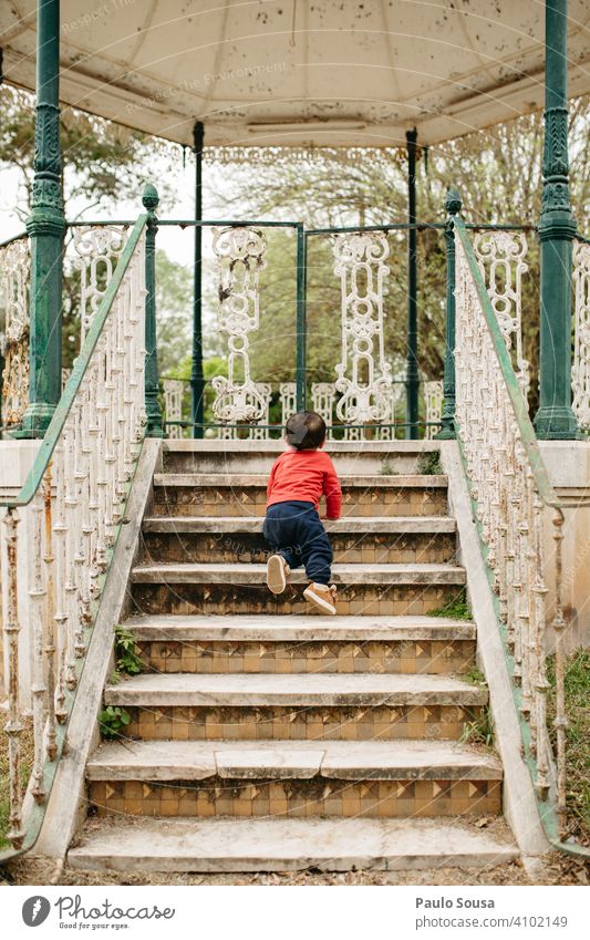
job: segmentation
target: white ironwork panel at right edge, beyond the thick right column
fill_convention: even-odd
[[[590,431],[590,245],[583,241],[573,242],[573,291],[572,409],[580,427]]]

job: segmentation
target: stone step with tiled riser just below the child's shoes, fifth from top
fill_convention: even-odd
[[[138,653],[153,672],[460,673],[475,662],[475,627],[460,620],[283,620],[287,626],[263,616],[136,617],[125,627],[134,633]],[[351,620],[358,626],[353,627]]]

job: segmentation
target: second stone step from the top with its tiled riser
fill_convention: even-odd
[[[263,516],[267,483],[268,473],[155,474],[152,514]],[[446,476],[344,476],[341,483],[343,516],[448,515]]]

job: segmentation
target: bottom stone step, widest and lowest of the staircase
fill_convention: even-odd
[[[437,819],[90,819],[68,864],[125,871],[417,870],[500,865],[519,853],[506,824]]]

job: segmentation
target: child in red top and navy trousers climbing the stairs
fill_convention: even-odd
[[[335,613],[337,589],[330,582],[333,552],[318,515],[322,493],[328,519],[340,518],[342,490],[328,454],[325,422],[313,411],[293,414],[286,426],[287,451],[275,462],[267,487],[263,534],[273,554],[267,585],[280,595],[291,568],[306,566],[310,583],[303,596],[322,613]]]

